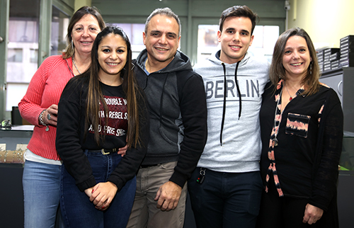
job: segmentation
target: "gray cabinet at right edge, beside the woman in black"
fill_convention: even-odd
[[[344,115],[341,171],[338,177],[338,216],[340,227],[352,227],[354,211],[354,67],[322,74],[319,79],[337,92]]]

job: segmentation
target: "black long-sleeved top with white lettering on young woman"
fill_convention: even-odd
[[[104,135],[100,144],[97,144],[94,139],[93,127],[86,123],[87,79],[73,78],[70,80],[59,101],[57,152],[81,191],[96,185],[91,166],[84,154],[85,149],[121,148],[126,144],[128,115],[127,101],[122,86],[108,86],[102,83],[100,86],[108,106],[108,124],[105,125],[103,104],[100,104],[101,110],[98,115],[102,122],[98,131],[100,135]],[[137,94],[139,135],[142,144],[128,149],[127,154],[122,157],[122,161],[108,178],[108,181],[118,186],[118,190],[135,176],[147,151],[144,145],[147,145],[149,138],[149,114],[144,97],[139,94]]]

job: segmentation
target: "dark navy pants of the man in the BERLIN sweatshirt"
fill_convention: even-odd
[[[205,171],[197,183],[197,167],[188,181],[195,223],[200,228],[248,228],[256,226],[263,185],[258,171],[222,173]]]

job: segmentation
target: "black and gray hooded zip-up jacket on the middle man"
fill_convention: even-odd
[[[135,60],[135,75],[149,104],[150,139],[143,165],[178,161],[169,179],[183,187],[207,140],[207,105],[202,77],[177,51],[164,69],[147,75],[147,50]]]

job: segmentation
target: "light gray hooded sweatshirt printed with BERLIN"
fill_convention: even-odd
[[[219,52],[194,69],[202,76],[207,97],[207,144],[198,167],[230,173],[259,171],[259,110],[269,63],[246,53],[240,62],[226,64],[219,60]]]

